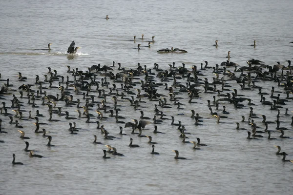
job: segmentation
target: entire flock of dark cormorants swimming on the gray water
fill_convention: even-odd
[[[143,36],[144,35],[142,35],[142,39]],[[135,38],[134,36],[134,40]],[[153,39],[154,36],[152,37],[152,40]],[[52,43],[48,44],[49,50],[51,44]],[[138,48],[139,46],[140,44]],[[218,40],[215,41],[214,46],[218,46]],[[252,46],[255,47],[255,41]],[[74,54],[79,48],[80,47],[75,47],[75,42],[72,41],[68,47],[67,53]],[[158,52],[160,51],[169,52],[168,49],[159,50]],[[185,50],[182,51],[173,48],[170,51],[186,52]],[[192,143],[193,147],[190,147],[190,149],[200,150],[202,146],[207,145],[201,143],[201,139],[198,137],[196,138],[197,142],[187,141],[188,137],[186,135],[190,134],[192,136],[194,133],[187,132],[184,124],[182,124],[180,120],[178,120],[178,123],[175,123],[174,116],[166,116],[163,111],[169,108],[177,108],[178,110],[184,109],[180,107],[184,105],[180,101],[183,102],[185,100],[188,101],[188,107],[192,108],[192,104],[197,103],[194,99],[202,98],[202,94],[211,94],[212,100],[207,99],[211,117],[206,119],[216,117],[216,122],[221,123],[220,120],[225,120],[230,114],[226,111],[225,105],[228,104],[233,105],[234,109],[249,107],[249,113],[244,113],[244,115],[247,114],[249,117],[248,121],[245,120],[245,116],[242,116],[242,120],[236,122],[236,130],[246,130],[248,133],[248,140],[264,140],[262,137],[268,137],[268,140],[280,141],[290,138],[284,136],[285,132],[289,129],[280,127],[280,122],[282,122],[280,117],[281,110],[284,109],[284,107],[288,106],[289,109],[292,109],[293,97],[291,94],[293,94],[293,76],[291,60],[287,60],[287,66],[280,64],[280,62],[277,62],[277,64],[273,66],[269,66],[261,60],[251,59],[247,61],[247,66],[239,67],[237,63],[230,61],[229,51],[228,60],[223,61],[220,65],[209,66],[208,61],[204,62],[205,65],[201,63],[200,68],[198,68],[197,65],[193,65],[190,69],[188,69],[184,63],[176,67],[175,62],[168,64],[169,69],[160,69],[157,63],[154,63],[152,69],[147,68],[146,65],[140,65],[140,63],[137,64],[136,68],[127,69],[121,67],[121,63],[118,63],[119,67],[116,68],[115,62],[113,61],[112,66],[102,66],[100,64],[92,65],[85,71],[79,70],[78,68],[71,69],[70,66],[67,66],[68,71],[66,75],[59,75],[57,70],[52,71],[52,69],[48,67],[48,72],[44,75],[44,79],[41,80],[40,76],[36,75],[34,83],[27,82],[28,78],[22,76],[21,72],[19,72],[17,81],[20,84],[18,86],[9,84],[10,78],[2,79],[0,75],[0,82],[4,84],[0,90],[0,99],[2,99],[3,104],[3,106],[0,107],[0,137],[5,140],[6,137],[9,137],[11,131],[18,130],[21,133],[19,138],[26,140],[24,151],[29,153],[28,156],[43,157],[34,154],[33,150],[28,149],[29,142],[27,140],[30,139],[30,137],[25,136],[25,131],[31,131],[32,127],[22,127],[21,121],[36,120],[34,123],[36,126],[34,133],[42,134],[42,137],[48,139],[47,144],[44,143],[47,147],[54,147],[55,145],[51,144],[53,137],[48,136],[43,127],[52,122],[60,122],[59,119],[53,118],[64,117],[68,121],[75,121],[73,123],[69,122],[70,127],[68,129],[68,134],[82,135],[82,132],[79,132],[79,128],[76,127],[77,121],[94,123],[90,125],[90,130],[94,134],[100,132],[102,137],[94,135],[92,144],[103,144],[103,141],[97,141],[97,138],[101,138],[102,140],[113,140],[111,141],[111,145],[115,145],[115,139],[126,136],[126,134],[123,133],[123,128],[130,128],[131,131],[129,133],[132,137],[135,135],[148,138],[147,143],[152,148],[150,154],[159,155],[158,152],[154,152],[154,144],[157,144],[157,142],[154,142],[150,135],[142,135],[142,132],[146,128],[146,125],[154,124],[155,130],[152,134],[160,134],[161,137],[164,137],[168,132],[159,132],[157,131],[158,127],[160,127],[160,124],[167,123],[168,120],[171,120],[172,122],[170,125],[178,127],[177,130],[178,136],[181,139],[180,141],[183,143]],[[244,72],[246,72],[246,74]],[[212,81],[209,81],[207,78],[207,74],[210,73],[215,76]],[[271,95],[262,92],[262,87],[260,86],[262,82],[275,83],[275,86],[272,86]],[[252,100],[250,97],[239,94],[235,87],[232,89],[233,87],[230,85],[232,83],[239,84],[241,91],[250,91],[251,96],[259,96],[261,98],[260,103],[254,104],[251,102]],[[259,85],[256,85],[257,83],[259,83]],[[280,91],[275,91],[275,87]],[[158,91],[163,93],[158,93]],[[275,96],[275,94],[277,94],[277,96]],[[285,98],[281,98],[283,94],[286,94]],[[10,100],[11,105],[6,106],[7,102],[4,100]],[[133,122],[127,122],[127,113],[124,112],[121,107],[121,104],[125,102],[129,102],[129,106],[133,107],[135,112],[140,112],[141,117],[134,118],[132,120]],[[222,111],[219,109],[220,104],[225,104],[223,105]],[[267,121],[263,113],[255,114],[253,112],[253,107],[258,104],[263,105],[264,109],[275,111],[277,113],[275,120]],[[150,108],[151,106],[154,106],[154,116],[145,117],[145,108]],[[202,105],[202,107],[202,109],[204,109],[206,105]],[[45,111],[45,108],[48,108],[48,110]],[[70,113],[68,111],[72,110],[72,108],[74,110],[77,109],[77,117],[69,116]],[[36,111],[35,115],[31,112],[32,109]],[[213,112],[213,109],[215,109],[216,112]],[[285,109],[285,115],[282,117],[290,117],[288,113],[289,109]],[[63,112],[63,110],[66,111]],[[12,112],[14,114],[12,114]],[[40,112],[43,112],[43,114]],[[204,125],[205,118],[200,117],[200,111],[196,113],[194,110],[190,109],[190,112],[190,122],[194,122],[194,127]],[[124,117],[120,115],[121,113],[123,113]],[[107,117],[105,117],[105,115],[107,115]],[[259,118],[258,116],[262,116],[263,120],[257,124],[255,120]],[[186,116],[178,114],[177,117]],[[40,122],[41,118],[42,122]],[[124,127],[120,126],[120,133],[114,136],[116,130],[106,130],[105,128],[108,123],[123,124]],[[240,123],[249,124],[251,126],[251,131],[240,128]],[[275,130],[268,130],[268,124],[276,125]],[[263,131],[258,130],[261,128],[258,125],[264,125],[265,129]],[[293,117],[291,126],[293,126]],[[41,127],[42,131],[39,131]],[[3,131],[3,129],[6,129],[6,131]],[[271,137],[272,132],[275,134],[279,132],[281,135],[278,138]],[[267,136],[265,136],[265,134],[267,134]],[[138,144],[133,144],[136,140],[132,137],[130,137],[128,146],[131,148],[139,148],[140,146]],[[35,136],[32,137],[32,139],[35,138]],[[0,142],[5,144],[4,140],[0,140]],[[58,143],[55,144],[58,145]],[[106,156],[107,153],[113,156],[124,156],[118,153],[117,148],[111,145],[105,145],[107,150],[105,150],[105,148],[102,149],[104,153],[103,158],[110,158]],[[292,160],[285,159],[288,154],[286,152],[280,152],[280,146],[276,145],[275,147],[278,148],[276,155],[282,155],[282,160],[284,162],[293,162]],[[173,152],[175,152],[175,159],[187,159],[185,157],[179,157],[179,151],[173,150]],[[22,165],[23,163],[15,162],[15,154],[13,154],[12,164]]]

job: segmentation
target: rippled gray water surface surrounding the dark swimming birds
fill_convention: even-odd
[[[291,0],[1,1],[1,79],[10,78],[10,83],[14,85],[11,88],[18,89],[22,84],[18,81],[18,72],[28,78],[25,84],[32,84],[35,75],[44,79],[43,75],[48,72],[46,67],[56,69],[58,75],[70,76],[66,73],[67,65],[86,71],[93,64],[110,66],[112,61],[120,62],[126,69],[136,68],[138,62],[152,68],[156,62],[166,70],[169,69],[167,64],[174,61],[176,66],[185,63],[191,70],[190,65],[197,65],[199,69],[202,60],[208,60],[210,66],[220,64],[226,60],[228,51],[231,51],[231,61],[240,66],[246,66],[246,61],[251,58],[263,60],[268,65],[280,61],[287,66],[285,60],[293,57],[293,44],[289,44],[293,41],[292,7]],[[105,20],[106,15],[109,15],[109,20]],[[145,35],[144,41],[140,39],[141,34]],[[129,41],[134,35],[137,36],[136,42]],[[150,48],[133,49],[139,43],[147,46],[147,40],[151,40],[152,36],[155,36],[156,42]],[[212,46],[216,39],[219,40],[217,48]],[[82,47],[74,56],[66,53],[72,40],[76,46]],[[255,48],[250,46],[253,40],[256,40]],[[53,43],[50,52],[34,50],[47,48],[49,42]],[[171,47],[185,49],[188,53],[156,52]],[[113,72],[116,74],[117,68]],[[211,71],[204,71],[204,74],[211,82],[214,77]],[[237,76],[239,74],[236,73]],[[160,82],[158,78],[155,79]],[[184,84],[185,80],[178,81]],[[0,82],[1,86],[5,83]],[[171,81],[167,83],[169,86],[172,84]],[[253,106],[255,114],[265,114],[269,121],[276,119],[276,111],[259,103],[257,90],[241,91],[235,81],[228,81],[227,84],[253,100],[256,104]],[[57,85],[58,82],[53,83],[53,86]],[[261,81],[256,85],[262,86],[263,92],[267,93],[271,92],[272,85],[277,91],[283,91],[272,81]],[[47,84],[43,86],[47,87]],[[137,87],[140,88],[140,85]],[[33,86],[32,89],[37,90],[37,87]],[[108,92],[106,87],[101,89]],[[45,91],[60,94],[57,89]],[[158,92],[167,95],[163,87]],[[11,93],[19,97],[18,92]],[[97,96],[97,93],[91,94]],[[75,100],[82,99],[81,95],[74,96]],[[29,110],[35,116],[37,109],[46,116],[40,118],[40,122],[49,125],[41,125],[41,129],[51,132],[48,135],[53,137],[52,144],[56,147],[46,147],[47,140],[34,134],[35,125],[32,123],[35,120],[21,120],[25,135],[30,137],[29,149],[45,156],[29,158],[23,151],[25,144],[19,138],[18,129],[9,124],[8,117],[1,115],[2,130],[9,134],[0,134],[0,140],[5,141],[0,144],[0,194],[292,194],[293,164],[282,162],[281,156],[275,155],[277,149],[273,147],[281,146],[282,151],[289,154],[287,159],[293,159],[292,139],[267,140],[265,134],[261,140],[247,140],[246,131],[235,130],[235,122],[241,121],[241,115],[249,117],[249,105],[235,110],[229,103],[220,104],[217,112],[221,113],[222,105],[226,105],[230,118],[221,119],[223,123],[217,124],[207,107],[206,100],[212,100],[211,94],[200,94],[200,98],[193,99],[198,102],[194,104],[188,104],[186,94],[178,97],[182,97],[180,102],[186,104],[181,106],[184,110],[177,110],[175,105],[171,109],[159,109],[166,117],[174,116],[176,123],[177,120],[182,121],[187,132],[191,133],[188,140],[195,141],[196,137],[200,137],[208,146],[192,150],[192,144],[181,142],[177,126],[171,126],[170,121],[165,120],[158,125],[158,131],[164,132],[164,135],[153,134],[153,124],[143,130],[144,135],[151,135],[153,141],[158,142],[155,151],[160,153],[159,156],[150,155],[148,139],[131,135],[130,128],[124,128],[127,136],[119,136],[120,125],[115,123],[114,118],[100,122],[111,135],[121,139],[104,140],[96,124],[85,123],[84,118],[73,120],[82,130],[78,135],[70,135],[67,131],[69,121],[54,115],[54,119],[61,121],[49,122],[47,107],[41,105],[41,100],[36,100],[40,108],[32,108],[26,104],[27,99],[21,99],[24,102],[22,108],[27,111],[23,112],[24,117],[28,117]],[[285,94],[281,94],[281,98],[285,97]],[[6,106],[11,106],[9,99],[12,99],[12,95],[5,95],[5,98]],[[153,117],[154,104],[158,102],[149,102],[147,98],[143,100],[148,103],[141,103],[145,108],[140,109],[145,111],[146,117]],[[267,100],[272,101],[269,96]],[[107,105],[113,106],[110,98],[107,101]],[[81,105],[84,102],[82,99]],[[172,104],[170,101],[168,103]],[[123,121],[139,119],[139,110],[134,111],[128,101],[118,102],[118,105],[122,106],[120,115],[126,117]],[[69,111],[71,117],[77,117],[75,107],[64,107],[64,102],[58,102],[58,106],[63,107],[63,111]],[[95,105],[90,111],[95,116],[96,108]],[[282,121],[282,127],[293,129],[290,126],[291,116],[284,116],[285,108],[289,108],[292,116],[292,100],[280,109],[279,120]],[[193,125],[190,109],[204,117],[203,126]],[[11,110],[8,112],[14,114]],[[177,116],[178,113],[184,115]],[[108,117],[108,113],[104,116]],[[96,120],[95,117],[91,118],[93,122]],[[261,120],[261,117],[254,119],[263,130]],[[250,130],[247,123],[241,123],[240,126]],[[269,130],[275,130],[275,127],[275,124],[269,124]],[[285,134],[293,137],[292,131],[286,131]],[[93,135],[97,135],[103,145],[93,145]],[[279,132],[272,131],[272,137],[279,135]],[[140,148],[128,147],[130,137]],[[104,145],[116,147],[117,152],[125,156],[108,154],[111,158],[103,159]],[[178,150],[180,156],[189,160],[175,160],[172,150]],[[23,162],[24,166],[11,165],[13,153],[16,154],[16,161]]]

